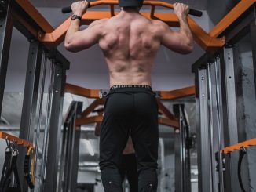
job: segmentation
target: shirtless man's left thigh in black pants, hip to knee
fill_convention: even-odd
[[[123,149],[130,133],[127,122],[130,102],[129,95],[120,93],[112,94],[106,100],[101,123],[100,165],[120,165],[121,163]]]

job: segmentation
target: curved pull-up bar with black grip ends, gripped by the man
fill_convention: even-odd
[[[93,6],[97,6],[97,5],[118,5],[118,2],[116,1],[96,1],[96,2],[89,2],[88,8],[93,7]],[[166,8],[170,8],[170,9],[174,9],[174,5],[170,4],[170,3],[166,3],[166,2],[152,2],[152,1],[147,1],[147,2],[143,2],[143,5],[151,5],[151,6],[156,6],[156,5],[161,5],[163,7]],[[70,13],[72,12],[71,6],[68,7],[64,7],[62,10],[62,13]],[[152,12],[155,11],[155,9],[151,9]],[[152,15],[154,13],[151,13]],[[202,16],[203,12],[198,11],[196,9],[189,9],[189,13],[192,16]]]

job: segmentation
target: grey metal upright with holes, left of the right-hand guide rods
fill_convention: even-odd
[[[207,70],[196,71],[196,110],[199,112],[196,119],[198,143],[199,192],[212,192],[212,178],[210,167],[210,133],[207,92]]]

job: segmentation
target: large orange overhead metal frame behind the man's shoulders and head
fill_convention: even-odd
[[[199,27],[198,24],[191,17],[188,16],[188,23],[192,29],[192,34],[195,41],[205,50],[214,50],[225,45],[225,37],[219,37],[219,35],[225,31],[235,20],[237,20],[244,12],[247,11],[256,0],[241,0],[211,31],[207,33]],[[63,42],[64,35],[68,30],[70,24],[70,18],[60,24],[59,27],[53,29],[53,27],[46,21],[46,19],[38,13],[38,10],[29,2],[28,0],[16,0],[24,11],[30,15],[35,23],[42,28],[42,31],[38,33],[38,40],[46,43],[46,45],[59,45]],[[117,0],[99,0],[96,2],[91,2],[90,5],[109,5],[109,11],[87,11],[86,14],[82,16],[82,24],[90,24],[94,20],[99,20],[102,18],[110,18],[115,16],[114,5],[117,5]],[[145,1],[144,5],[150,5],[151,11],[141,13],[142,15],[148,17],[149,19],[163,20],[170,27],[178,27],[179,23],[177,16],[174,13],[155,13],[155,6],[163,6],[166,8],[173,9],[173,5],[167,2],[155,2],[155,1]]]

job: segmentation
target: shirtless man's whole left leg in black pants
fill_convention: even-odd
[[[101,179],[106,192],[121,192],[119,166],[129,137],[130,95],[115,93],[108,96],[100,137]]]

